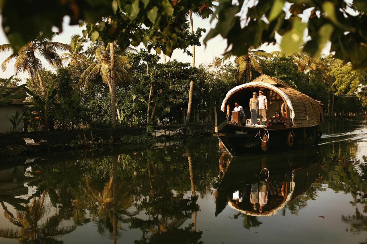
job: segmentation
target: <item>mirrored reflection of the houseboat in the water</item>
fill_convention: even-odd
[[[319,177],[322,155],[304,151],[219,158],[215,216],[228,205],[250,216],[272,216],[305,193]]]

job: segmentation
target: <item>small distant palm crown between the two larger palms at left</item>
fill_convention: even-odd
[[[86,57],[86,52],[83,51],[84,43],[88,42],[86,38],[78,34],[74,34],[70,38],[70,50],[62,53],[62,60],[70,60],[70,64],[75,64],[77,61],[83,60]]]

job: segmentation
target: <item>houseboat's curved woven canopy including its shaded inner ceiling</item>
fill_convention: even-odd
[[[238,85],[229,90],[222,102],[221,110],[225,112],[227,106],[232,106],[233,108],[234,102],[237,100],[243,106],[243,104],[248,103],[250,100],[251,93],[254,91],[257,92],[256,89],[262,89],[267,94],[268,105],[271,106],[270,112],[272,113],[270,116],[273,116],[275,111],[280,109],[281,103],[286,102],[288,114],[287,127],[312,127],[321,125],[321,120],[324,122],[324,114],[320,106],[320,101],[314,100],[295,90],[285,82],[268,75],[261,75],[252,82]],[[270,104],[269,96],[272,97]],[[247,105],[243,107],[247,108]]]

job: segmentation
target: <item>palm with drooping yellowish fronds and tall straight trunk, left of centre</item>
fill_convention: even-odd
[[[116,85],[115,82],[122,81],[126,77],[129,77],[127,52],[136,52],[134,48],[126,48],[121,50],[119,45],[113,43],[113,45],[106,45],[103,41],[97,41],[94,43],[97,47],[95,50],[96,60],[83,72],[79,82],[85,81],[84,86],[88,85],[88,82],[101,75],[102,80],[108,85],[111,94],[111,116],[112,116],[112,128],[116,128],[116,100],[113,102],[113,98],[116,98]],[[113,47],[111,52],[110,47]],[[111,55],[112,54],[112,55]],[[111,58],[112,57],[112,58]],[[111,70],[111,61],[113,69]],[[112,74],[112,77],[111,77]],[[112,79],[113,78],[113,79]],[[119,112],[117,112],[119,114]]]

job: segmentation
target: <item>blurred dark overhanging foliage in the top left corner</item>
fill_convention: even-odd
[[[6,0],[1,7],[5,14],[3,28],[16,51],[40,32],[50,35],[53,26],[62,31],[65,15],[70,16],[71,25],[77,25],[80,19],[97,21],[101,16],[112,14],[111,2],[106,0],[81,0],[73,3],[30,0],[22,2],[22,6]]]

